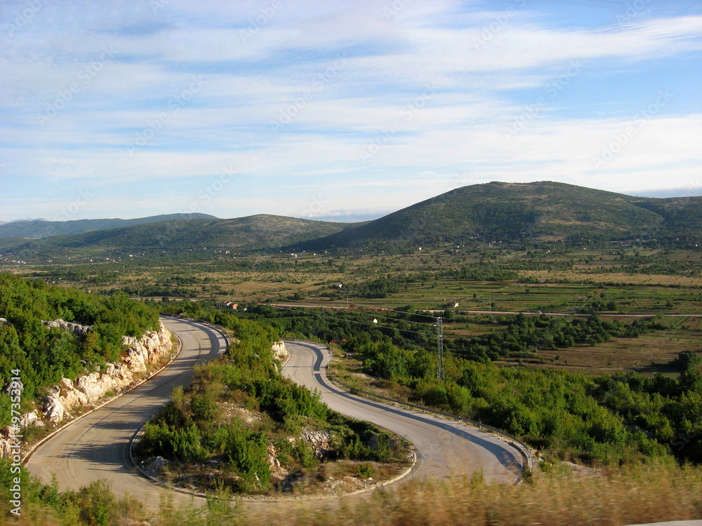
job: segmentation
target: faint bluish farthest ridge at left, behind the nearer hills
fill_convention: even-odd
[[[74,221],[25,220],[11,223],[0,222],[0,238],[42,239],[51,236],[68,236],[117,227],[132,227],[137,224],[157,223],[169,220],[216,219],[208,214],[168,214],[140,217],[133,220],[99,219]]]

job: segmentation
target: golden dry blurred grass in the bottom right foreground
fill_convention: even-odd
[[[518,486],[413,481],[365,499],[302,503],[247,525],[625,525],[702,518],[702,470],[651,465],[607,476],[538,473]]]

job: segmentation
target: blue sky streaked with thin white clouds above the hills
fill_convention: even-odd
[[[2,0],[0,221],[702,195],[701,58],[698,0]]]

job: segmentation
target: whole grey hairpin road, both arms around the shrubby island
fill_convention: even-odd
[[[164,324],[183,342],[178,358],[156,377],[37,447],[25,464],[34,476],[49,483],[55,474],[62,490],[77,490],[93,480],[105,479],[117,494],[131,494],[150,508],[159,506],[167,490],[140,476],[131,465],[129,440],[142,422],[169,400],[174,386],[190,383],[194,365],[225,349],[223,336],[206,325],[176,318],[164,318]],[[291,359],[284,375],[319,389],[332,410],[374,422],[416,445],[418,462],[413,477],[449,478],[479,471],[486,480],[517,480],[522,456],[510,445],[462,424],[353,396],[326,379],[324,366],[329,354],[324,347],[298,342],[286,342],[286,346]],[[175,504],[193,501],[190,495],[170,493]],[[195,501],[201,504],[203,499]]]

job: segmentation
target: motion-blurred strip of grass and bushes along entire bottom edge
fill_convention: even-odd
[[[656,462],[583,474],[562,466],[538,469],[514,486],[488,485],[474,477],[451,483],[408,480],[336,500],[262,504],[223,497],[213,496],[202,508],[176,508],[164,501],[159,511],[150,512],[134,499],[93,483],[80,492],[45,493],[23,505],[21,518],[3,513],[0,524],[615,526],[691,520],[702,518],[702,468]]]

